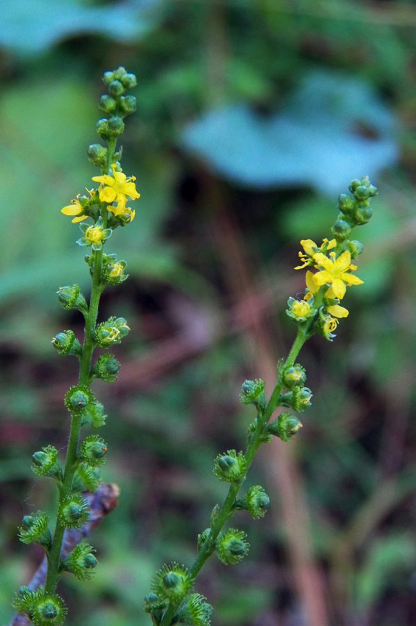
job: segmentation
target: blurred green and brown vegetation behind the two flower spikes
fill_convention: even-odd
[[[192,562],[224,495],[213,458],[242,445],[252,417],[238,393],[262,375],[253,327],[269,329],[274,360],[287,351],[285,300],[303,289],[292,270],[299,239],[328,236],[336,195],[369,173],[380,197],[358,234],[365,284],[348,292],[335,342],[314,338],[302,351],[313,407],[286,445],[328,624],[413,624],[414,4],[15,0],[2,11],[0,623],[40,558],[19,544],[17,525],[35,506],[53,510],[53,485],[33,479],[30,456],[65,446],[61,399],[76,378],[50,343],[69,323],[81,330],[56,290],[88,284],[78,228],[60,208],[97,173],[85,150],[97,141],[99,80],[124,65],[138,77],[124,170],[142,197],[123,240],[112,238],[130,278],[104,295],[101,317],[111,299],[133,332],[116,354],[118,383],[94,383],[110,416],[103,478],[122,496],[91,538],[97,575],[63,578],[67,623],[147,623],[153,571]],[[249,557],[235,569],[212,559],[198,584],[215,626],[312,624],[268,460],[249,481],[262,476],[271,514],[238,520]]]

